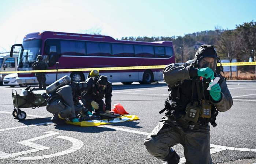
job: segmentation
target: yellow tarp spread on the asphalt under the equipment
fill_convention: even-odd
[[[81,121],[81,122],[66,121],[66,123],[71,125],[77,125],[77,126],[100,126],[100,125],[115,124],[118,122],[126,122],[126,121],[133,121],[133,120],[140,120],[140,118],[136,115],[125,115],[125,116],[117,117],[114,119],[110,119],[110,121],[108,121],[108,119],[103,119],[103,120],[88,120],[88,121]]]

